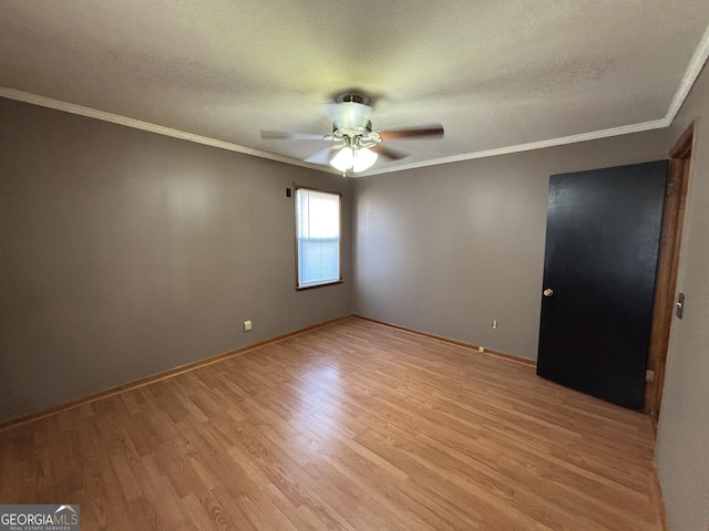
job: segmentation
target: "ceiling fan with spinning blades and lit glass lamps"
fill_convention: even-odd
[[[382,146],[383,142],[410,138],[442,138],[440,124],[405,127],[400,129],[372,131],[370,98],[363,94],[347,92],[338,95],[328,106],[332,119],[332,133],[317,135],[311,133],[285,133],[261,131],[264,139],[325,140],[333,145],[305,159],[311,164],[330,164],[342,175],[348,169],[354,173],[370,168],[379,156],[398,160],[408,154]]]

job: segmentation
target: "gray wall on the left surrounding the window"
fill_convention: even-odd
[[[0,421],[350,312],[350,181],[2,98],[0,123]],[[346,192],[342,284],[295,290],[294,181]]]

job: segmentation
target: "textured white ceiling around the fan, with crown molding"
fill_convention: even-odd
[[[0,95],[276,160],[325,105],[444,139],[368,174],[669,124],[709,54],[707,0],[2,0]],[[326,166],[319,169],[330,170]]]

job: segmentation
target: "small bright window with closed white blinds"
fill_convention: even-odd
[[[340,195],[296,189],[298,289],[339,282]]]

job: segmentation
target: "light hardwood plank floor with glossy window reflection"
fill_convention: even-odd
[[[661,530],[649,417],[347,319],[0,431],[82,530]]]

